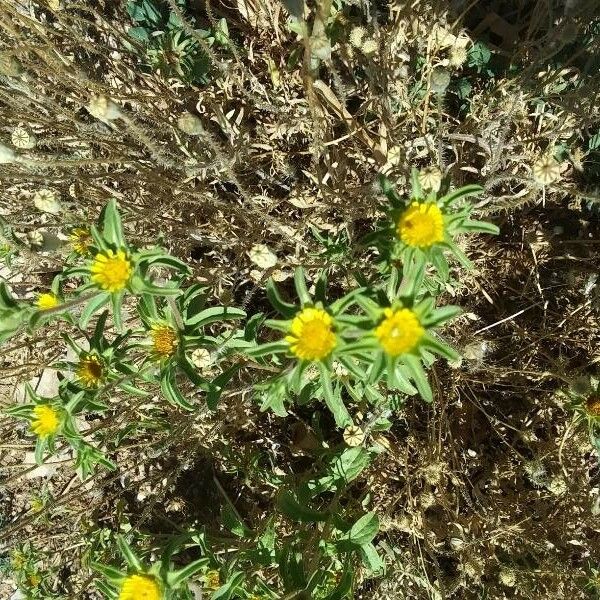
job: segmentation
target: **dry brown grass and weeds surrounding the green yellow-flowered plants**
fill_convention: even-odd
[[[457,186],[480,182],[477,213],[501,235],[472,240],[474,270],[456,271],[447,289],[465,314],[445,335],[464,358],[435,366],[433,405],[409,400],[373,440],[385,451],[361,485],[382,515],[388,571],[356,597],[595,597],[598,458],[559,392],[600,360],[600,169],[588,144],[600,124],[598,21],[585,35],[596,3],[339,6],[339,39],[315,72],[310,42],[290,32],[274,0],[190,3],[206,26],[225,17],[232,41],[211,49],[200,86],[140,68],[118,2],[0,0],[0,142],[9,146],[16,127],[37,138],[17,151],[23,160],[0,166],[0,215],[15,236],[5,228],[0,239],[14,250],[0,276],[21,298],[47,288],[69,229],[114,197],[135,243],[162,236],[222,303],[268,310],[273,270],[251,262],[255,244],[277,254],[284,288],[303,264],[328,268],[344,289],[350,272],[374,269],[356,242],[380,216],[377,173],[401,193],[411,167],[438,165]],[[376,42],[372,53],[347,41],[357,25]],[[447,65],[454,35],[486,40],[493,72]],[[294,53],[300,62],[288,68]],[[7,72],[9,56],[20,73]],[[453,83],[438,102],[440,66]],[[466,106],[452,91],[462,79]],[[84,108],[93,95],[112,98],[123,118],[94,119]],[[178,128],[184,111],[201,119],[200,135]],[[558,146],[560,176],[543,186],[534,165]],[[35,210],[41,188],[57,193],[61,214]],[[347,238],[339,260],[313,227]],[[62,352],[58,327],[5,344],[0,404],[42,373],[51,386],[45,367]],[[105,530],[131,526],[150,544],[183,523],[210,527],[224,493],[248,522],[264,518],[274,489],[259,465],[301,474],[319,440],[302,409],[285,419],[259,412],[252,383],[242,374],[217,413],[193,418],[119,397],[118,411],[88,424],[103,428],[119,469],[83,483],[68,456],[31,478],[27,432],[3,416],[0,596],[15,589],[10,552],[24,543],[52,597],[95,598],[88,562],[105,552]],[[141,420],[155,428],[115,448],[124,424]]]

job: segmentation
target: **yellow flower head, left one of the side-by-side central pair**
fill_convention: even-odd
[[[333,319],[321,308],[305,308],[294,317],[285,341],[301,360],[323,360],[337,344]]]

